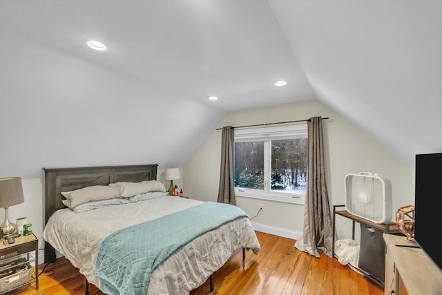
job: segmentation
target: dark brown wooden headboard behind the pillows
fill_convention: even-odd
[[[98,166],[75,168],[44,168],[45,171],[45,225],[50,216],[66,208],[61,191],[73,191],[92,185],[108,185],[113,182],[141,182],[157,179],[157,164],[131,166]],[[44,247],[44,262],[55,262],[55,249],[48,243]]]

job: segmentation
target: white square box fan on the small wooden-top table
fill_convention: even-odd
[[[345,175],[345,207],[375,223],[392,220],[392,182],[376,173]]]

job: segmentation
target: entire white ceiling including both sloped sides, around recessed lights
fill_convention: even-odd
[[[0,0],[0,177],[182,166],[227,111],[306,99],[441,152],[442,1]]]

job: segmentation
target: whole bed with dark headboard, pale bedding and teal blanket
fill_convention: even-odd
[[[244,249],[260,251],[244,211],[167,196],[157,164],[44,171],[45,263],[56,250],[65,256],[86,278],[86,294],[88,283],[106,294],[189,294],[241,249],[243,258]],[[73,206],[75,193],[95,188],[122,196]]]

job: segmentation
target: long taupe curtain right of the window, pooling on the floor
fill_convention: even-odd
[[[320,258],[318,251],[332,257],[332,215],[325,183],[323,123],[321,117],[308,122],[308,178],[302,238],[295,247]]]

